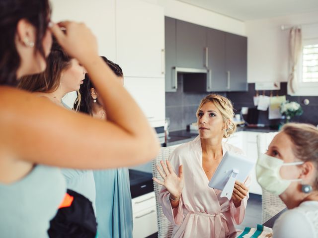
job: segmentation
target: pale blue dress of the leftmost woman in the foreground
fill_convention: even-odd
[[[0,238],[47,238],[65,193],[60,169],[43,165],[16,182],[0,183]]]

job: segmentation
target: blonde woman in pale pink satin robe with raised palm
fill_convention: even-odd
[[[197,111],[199,136],[176,148],[163,171],[164,179],[159,203],[164,215],[174,225],[176,238],[236,237],[235,224],[245,215],[250,178],[244,183],[236,181],[231,200],[221,197],[221,191],[208,186],[226,151],[243,152],[226,142],[236,130],[233,106],[229,99],[211,94],[202,99]],[[178,171],[176,175],[174,171]]]

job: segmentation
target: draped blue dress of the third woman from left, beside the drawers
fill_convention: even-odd
[[[99,238],[132,238],[133,212],[128,169],[94,171]]]

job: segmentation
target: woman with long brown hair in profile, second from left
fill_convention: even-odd
[[[85,69],[78,60],[70,57],[53,39],[51,53],[47,58],[47,67],[43,73],[24,76],[18,88],[34,92],[44,100],[51,100],[61,107],[70,109],[62,98],[69,92],[79,90],[85,78]],[[80,97],[79,97],[80,98]],[[78,101],[80,101],[78,99]],[[62,169],[67,188],[76,191],[92,202],[95,210],[95,182],[91,170]]]

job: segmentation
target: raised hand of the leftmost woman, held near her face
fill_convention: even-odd
[[[51,31],[63,49],[80,63],[98,56],[96,37],[85,24],[72,21],[53,23]]]

